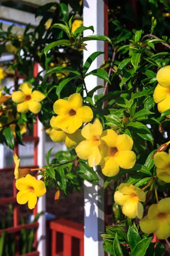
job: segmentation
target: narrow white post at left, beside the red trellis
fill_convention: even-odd
[[[40,72],[42,68],[40,65],[38,66],[38,72]],[[43,166],[45,164],[45,131],[42,131],[43,125],[38,120],[38,166]],[[38,175],[38,179],[41,176]],[[38,230],[37,230],[37,241],[39,256],[46,256],[46,220],[45,220],[45,210],[46,210],[46,196],[40,197],[37,203],[37,212],[43,212],[43,214],[38,219]]]

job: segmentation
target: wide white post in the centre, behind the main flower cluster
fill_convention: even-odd
[[[87,27],[92,25],[95,30],[94,34],[104,35],[104,0],[83,1],[83,25]],[[90,32],[84,31],[84,36],[87,35],[90,35]],[[93,52],[104,51],[103,41],[88,41],[87,44],[88,51],[83,51],[84,62]],[[89,71],[99,68],[103,60],[103,54],[98,56]],[[85,82],[88,91],[97,85],[104,85],[101,79],[92,75],[88,76]],[[102,92],[103,90],[100,90],[100,93]],[[84,182],[84,256],[104,256],[100,237],[100,233],[104,232],[105,228],[103,184],[103,177],[100,177],[99,185]]]

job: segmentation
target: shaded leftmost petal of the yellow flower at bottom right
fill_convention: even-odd
[[[156,218],[148,219],[148,216],[145,216],[140,220],[139,225],[143,233],[151,234],[157,230],[159,224]]]

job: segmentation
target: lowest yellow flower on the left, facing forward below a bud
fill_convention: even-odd
[[[42,197],[46,193],[45,184],[42,180],[27,174],[26,177],[16,181],[16,188],[20,190],[17,194],[17,202],[24,205],[28,202],[28,208],[33,209],[37,203],[37,197]]]

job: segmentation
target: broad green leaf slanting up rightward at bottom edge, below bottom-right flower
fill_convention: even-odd
[[[145,256],[146,250],[148,249],[149,244],[152,242],[153,237],[144,238],[141,240],[133,251],[131,251],[130,256]]]

